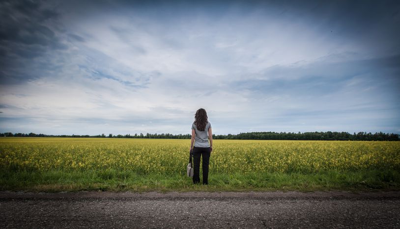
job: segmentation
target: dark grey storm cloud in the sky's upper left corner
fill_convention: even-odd
[[[57,11],[45,7],[44,1],[0,3],[1,84],[34,78],[31,68],[35,58],[67,49],[50,27],[57,24]]]

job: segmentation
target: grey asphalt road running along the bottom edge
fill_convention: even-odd
[[[0,228],[400,228],[400,192],[0,192]]]

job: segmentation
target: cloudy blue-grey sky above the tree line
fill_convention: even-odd
[[[399,1],[0,2],[0,132],[400,133]]]

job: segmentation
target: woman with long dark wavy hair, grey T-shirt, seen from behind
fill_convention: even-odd
[[[208,142],[208,140],[210,141]],[[195,121],[192,124],[192,140],[190,143],[190,152],[193,153],[194,158],[193,183],[197,184],[200,182],[200,157],[202,156],[203,184],[208,184],[208,164],[210,162],[211,151],[211,123],[208,122],[207,112],[203,108],[200,108],[196,111]]]

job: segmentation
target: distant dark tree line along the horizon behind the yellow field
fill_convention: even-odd
[[[190,139],[190,134],[170,134],[170,133],[135,133],[134,135],[48,135],[36,133],[0,133],[0,137],[85,137],[85,138],[170,138],[170,139]],[[237,139],[237,140],[342,140],[342,141],[399,141],[400,135],[397,133],[367,133],[358,132],[350,134],[348,132],[247,132],[239,134],[218,134],[212,135],[213,139]]]

